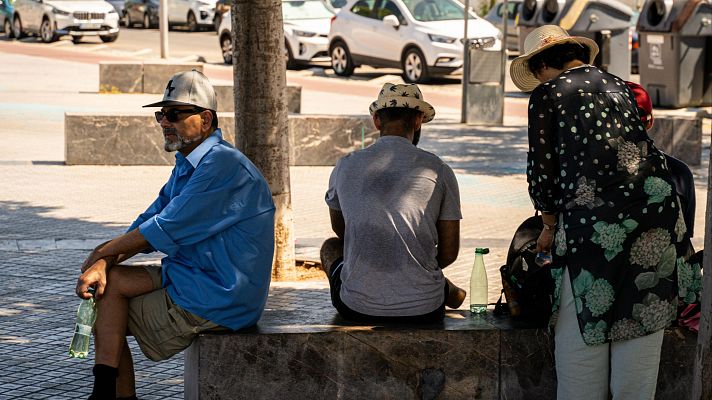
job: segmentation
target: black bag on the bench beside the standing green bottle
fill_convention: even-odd
[[[536,258],[536,242],[544,229],[541,217],[527,218],[517,228],[509,245],[507,263],[499,269],[502,277],[502,292],[495,313],[509,314],[531,327],[545,327],[551,317],[554,281],[551,264],[540,266]]]

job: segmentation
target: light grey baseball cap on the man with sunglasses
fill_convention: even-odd
[[[192,70],[179,72],[171,77],[163,92],[163,100],[144,107],[197,106],[217,111],[215,89],[202,72]]]

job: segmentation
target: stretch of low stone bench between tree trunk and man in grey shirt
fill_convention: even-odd
[[[292,165],[335,165],[379,136],[367,115],[290,115],[289,131]]]

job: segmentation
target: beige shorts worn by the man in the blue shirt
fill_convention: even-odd
[[[227,329],[173,303],[161,287],[161,267],[142,268],[151,276],[156,290],[129,301],[128,328],[146,357],[153,361],[168,359],[190,346],[200,332]]]

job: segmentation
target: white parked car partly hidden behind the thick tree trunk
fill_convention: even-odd
[[[232,63],[231,13],[223,16],[218,35],[223,60]],[[321,0],[283,0],[284,56],[287,68],[329,60],[327,35],[334,14]]]

